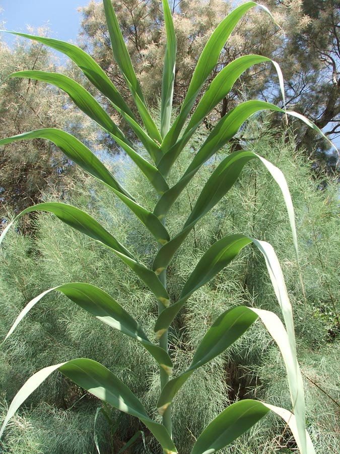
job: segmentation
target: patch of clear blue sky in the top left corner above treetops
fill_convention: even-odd
[[[6,30],[23,33],[27,32],[27,25],[47,25],[51,38],[75,41],[81,22],[77,8],[88,3],[89,0],[0,0],[0,22],[5,22]],[[11,42],[13,38],[9,36],[3,33],[2,39]]]

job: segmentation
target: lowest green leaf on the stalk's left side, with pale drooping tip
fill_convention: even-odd
[[[0,437],[9,420],[28,396],[56,369],[103,402],[129,415],[137,416],[154,434],[167,454],[177,452],[166,428],[150,419],[141,401],[132,391],[106,367],[86,358],[45,367],[32,375],[15,395],[0,431]]]

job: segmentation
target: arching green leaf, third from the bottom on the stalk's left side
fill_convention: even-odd
[[[98,221],[85,211],[75,208],[74,206],[66,205],[64,203],[46,202],[38,203],[37,205],[26,208],[7,225],[0,236],[0,244],[8,230],[11,228],[11,225],[17,219],[31,211],[39,210],[53,213],[60,220],[71,225],[74,229],[113,250],[113,252],[143,280],[162,304],[165,306],[169,304],[169,295],[157,275],[151,269],[146,268],[144,265],[137,262],[131,253],[107,232]]]

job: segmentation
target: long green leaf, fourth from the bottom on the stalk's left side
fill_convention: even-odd
[[[111,189],[111,191],[113,191],[115,195],[118,196],[120,200],[122,200],[125,205],[140,219],[140,221],[143,222],[146,228],[152,233],[152,235],[154,235],[159,243],[165,244],[169,241],[169,234],[157,216],[136,203],[132,199],[131,195],[120,186],[105,165],[92,153],[92,151],[90,151],[74,136],[58,129],[40,129],[2,139],[0,140],[0,146],[15,142],[17,140],[35,138],[47,139],[55,143],[55,145],[59,147],[67,157],[72,159],[86,172]],[[149,163],[148,165],[151,166]],[[157,171],[156,168],[155,170]]]

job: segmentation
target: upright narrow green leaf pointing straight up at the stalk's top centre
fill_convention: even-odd
[[[162,0],[162,3],[167,40],[164,56],[161,98],[161,136],[165,137],[170,127],[172,96],[175,81],[177,42],[168,0]]]

